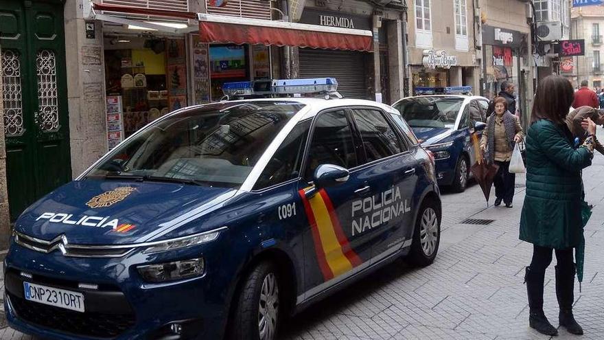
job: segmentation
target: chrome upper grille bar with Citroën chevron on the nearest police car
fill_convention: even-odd
[[[38,251],[40,253],[52,253],[60,251],[65,256],[76,258],[119,258],[125,256],[134,247],[95,246],[95,245],[71,245],[65,236],[58,236],[54,240],[40,240],[19,232],[14,233],[14,242],[21,247]]]

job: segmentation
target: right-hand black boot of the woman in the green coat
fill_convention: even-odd
[[[566,327],[569,333],[583,335],[583,328],[577,324],[572,315],[572,303],[574,302],[574,275],[577,269],[572,267],[556,266],[556,296],[560,306],[560,326]]]

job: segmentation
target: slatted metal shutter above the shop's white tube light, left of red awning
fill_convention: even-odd
[[[104,5],[119,5],[135,8],[148,8],[150,10],[175,10],[187,12],[189,4],[187,0],[102,0]],[[120,18],[142,20],[142,21],[170,21],[175,23],[187,23],[187,19],[176,19],[165,16],[152,16],[144,14],[119,13],[103,11],[103,14],[119,16]]]

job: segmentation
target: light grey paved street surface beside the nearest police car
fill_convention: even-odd
[[[585,228],[585,278],[581,293],[575,288],[574,313],[585,329],[580,339],[604,339],[604,157],[596,155],[583,177],[594,214]],[[487,209],[478,185],[444,192],[441,248],[432,266],[397,261],[294,317],[282,339],[550,339],[528,326],[522,282],[532,247],[518,240],[524,175],[516,182],[513,209]],[[462,224],[466,218],[493,222]],[[545,310],[557,325],[554,264],[546,273]],[[0,339],[32,337],[3,328]],[[579,338],[560,330],[556,339]]]

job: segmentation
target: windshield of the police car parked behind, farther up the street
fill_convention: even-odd
[[[411,127],[453,128],[463,98],[413,97],[395,104]]]

